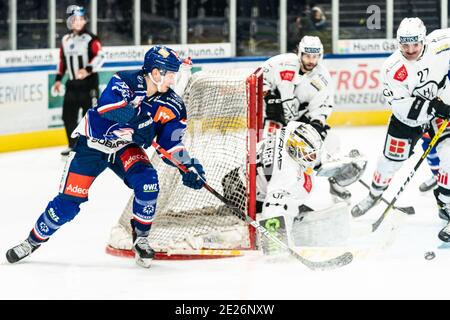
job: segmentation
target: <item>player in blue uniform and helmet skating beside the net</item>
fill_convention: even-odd
[[[111,78],[98,105],[89,109],[73,133],[78,141],[67,160],[59,194],[48,203],[28,238],[7,251],[10,263],[29,256],[71,221],[80,204],[88,200],[95,178],[110,168],[134,190],[133,250],[139,265],[150,266],[154,251],[147,236],[159,185],[157,172],[144,149],[156,139],[186,167],[195,169],[182,173],[184,185],[200,189],[204,184],[202,165],[190,158],[182,143],[186,108],[170,89],[180,65],[175,51],[155,46],[145,54],[142,70],[121,71]]]

